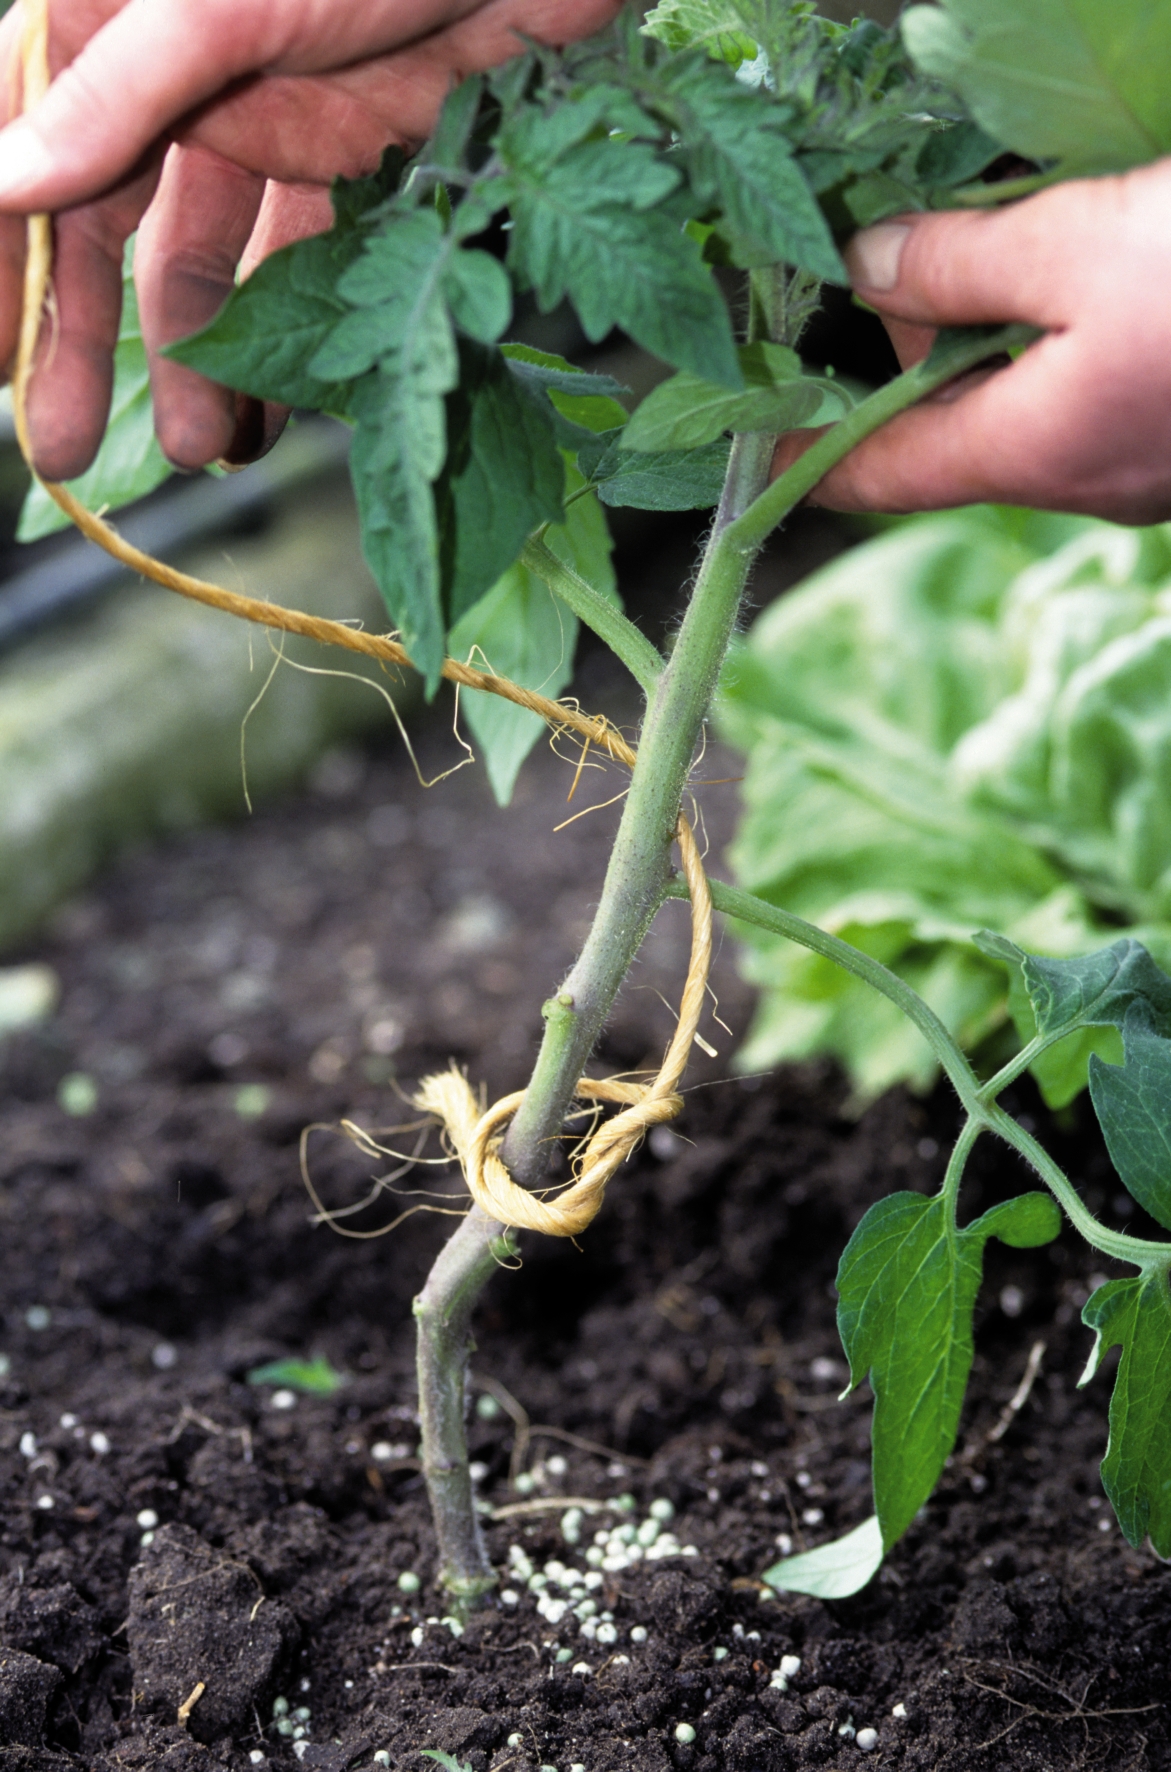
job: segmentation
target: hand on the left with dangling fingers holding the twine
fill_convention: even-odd
[[[151,356],[156,431],[179,468],[246,459],[280,431],[159,349],[204,326],[268,252],[330,227],[328,183],[425,140],[448,87],[567,43],[618,0],[51,0],[46,97],[0,131],[0,363],[12,361],[23,216],[55,216],[53,326],[28,388],[37,470],[73,478],[110,408],[122,246]],[[19,53],[19,5],[0,69]],[[0,119],[14,82],[0,82]]]

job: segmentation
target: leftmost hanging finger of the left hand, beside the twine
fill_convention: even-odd
[[[122,315],[122,252],[145,209],[154,170],[99,204],[53,222],[51,310],[28,383],[28,439],[37,473],[71,480],[97,454],[113,386]]]

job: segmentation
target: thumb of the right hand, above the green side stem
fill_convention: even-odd
[[[898,216],[845,248],[850,282],[884,315],[919,326],[1065,326],[1118,181],[1065,184],[996,213]]]

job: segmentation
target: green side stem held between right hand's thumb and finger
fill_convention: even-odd
[[[794,505],[799,505],[817,482],[873,431],[914,406],[923,395],[934,393],[935,388],[983,363],[985,358],[997,356],[1001,351],[1010,351],[1033,338],[1036,338],[1033,326],[1001,326],[996,331],[973,326],[965,331],[941,335],[930,356],[865,399],[852,413],[831,425],[792,468],[787,468],[732,526],[728,546],[755,553],[778,523],[785,521]]]

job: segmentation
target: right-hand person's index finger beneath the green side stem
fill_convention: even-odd
[[[1171,514],[1169,402],[1137,415],[1132,390],[1118,383],[1104,386],[1081,342],[1052,335],[958,397],[900,413],[838,462],[810,503],[886,512],[1013,503],[1162,521]],[[813,439],[781,439],[772,471]]]

